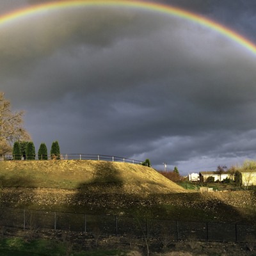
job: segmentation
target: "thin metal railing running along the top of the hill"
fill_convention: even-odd
[[[124,163],[133,163],[133,164],[142,164],[143,161],[135,160],[127,157],[120,157],[120,156],[108,156],[108,155],[100,155],[100,154],[60,154],[57,155],[33,155],[33,156],[26,156],[26,155],[15,155],[7,154],[1,157],[2,161],[5,160],[13,160],[13,159],[35,159],[35,160],[49,160],[49,159],[60,159],[60,160],[97,160],[97,161],[112,161],[112,162],[124,162]]]

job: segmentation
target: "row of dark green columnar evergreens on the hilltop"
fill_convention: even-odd
[[[35,160],[36,152],[33,141],[15,141],[12,150],[13,160]],[[38,149],[38,160],[47,160],[48,153],[45,143],[41,143]],[[60,146],[58,141],[52,142],[51,159],[60,159]]]

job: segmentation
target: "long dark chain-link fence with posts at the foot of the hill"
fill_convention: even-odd
[[[157,239],[250,242],[256,227],[238,223],[212,223],[139,219],[131,216],[78,214],[0,208],[0,226],[23,230],[68,230],[101,235],[157,237]]]

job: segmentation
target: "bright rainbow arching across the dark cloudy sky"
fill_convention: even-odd
[[[124,8],[136,8],[141,10],[149,10],[158,13],[164,13],[167,15],[172,15],[175,17],[180,17],[185,20],[191,20],[196,22],[197,24],[201,24],[202,26],[217,31],[223,36],[230,38],[237,42],[237,44],[243,46],[248,49],[248,51],[252,52],[256,55],[256,45],[253,44],[250,40],[245,38],[244,36],[239,35],[232,29],[229,29],[218,22],[207,19],[201,15],[196,13],[188,12],[186,10],[182,10],[180,8],[175,8],[166,4],[152,3],[147,1],[111,1],[111,0],[80,0],[80,1],[58,1],[58,2],[50,2],[44,4],[38,4],[35,6],[31,6],[29,8],[24,8],[17,10],[12,13],[7,13],[6,15],[2,15],[0,17],[0,27],[3,24],[7,24],[8,22],[12,22],[15,20],[22,19],[23,17],[28,17],[30,15],[36,15],[38,13],[47,12],[49,10],[61,10],[73,7],[81,7],[81,6],[119,6]]]

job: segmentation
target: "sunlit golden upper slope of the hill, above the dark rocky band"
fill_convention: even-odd
[[[152,168],[92,160],[2,161],[2,188],[85,189],[93,193],[182,193]]]

